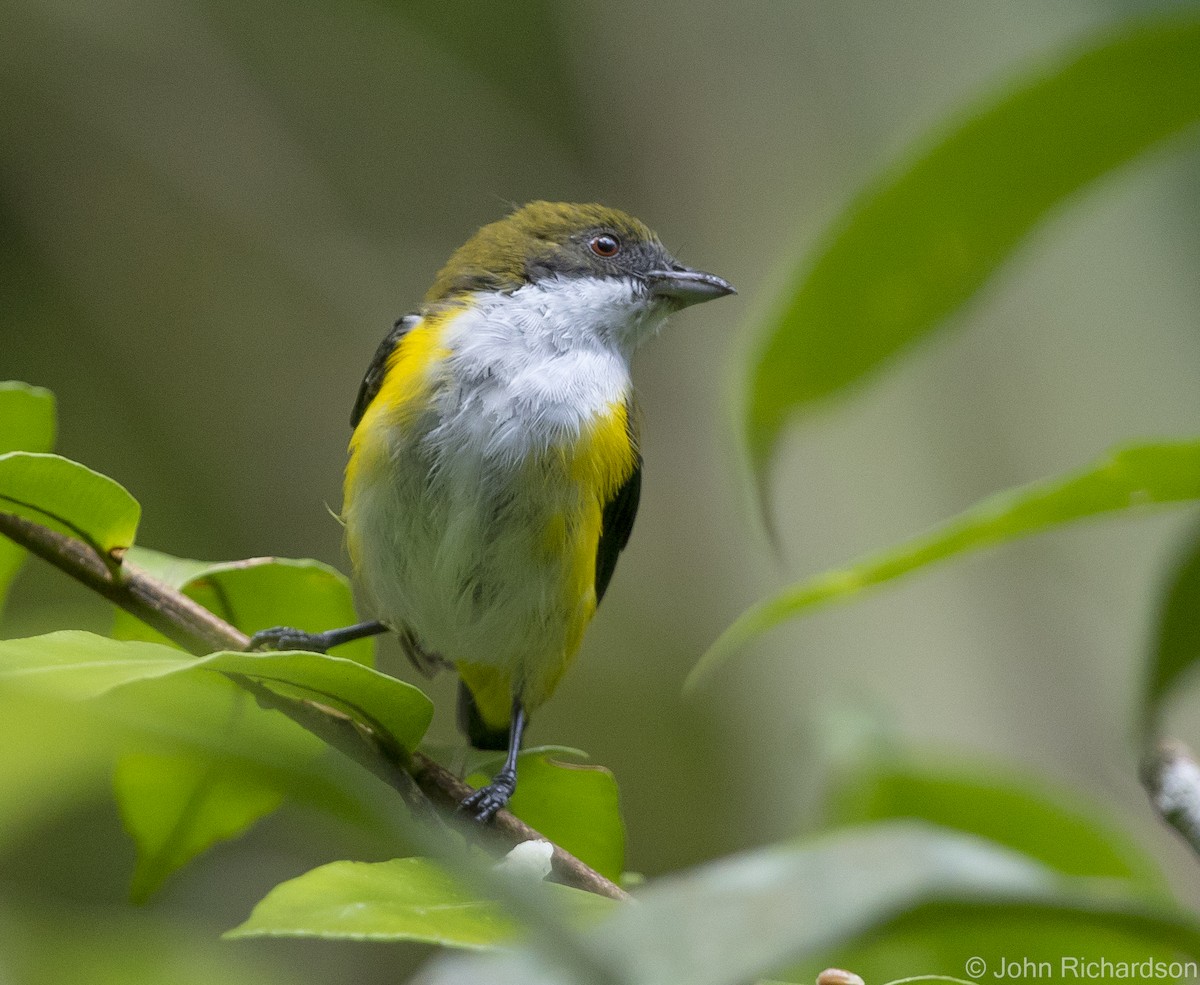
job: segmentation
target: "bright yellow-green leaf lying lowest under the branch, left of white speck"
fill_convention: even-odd
[[[530,883],[584,925],[616,903],[553,883]],[[227,937],[421,941],[452,948],[511,942],[520,926],[428,859],[335,861],[275,887]],[[484,979],[486,980],[486,979]]]

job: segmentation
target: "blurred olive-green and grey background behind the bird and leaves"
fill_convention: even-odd
[[[641,355],[636,534],[532,732],[616,771],[629,867],[804,830],[822,763],[860,719],[1074,786],[1174,867],[1183,849],[1145,806],[1130,723],[1157,589],[1194,517],[956,561],[774,632],[679,695],[720,630],[786,578],[1114,443],[1200,432],[1195,134],[1070,203],[953,334],[790,436],[772,479],[778,553],[733,413],[756,314],[866,178],[979,94],[1170,7],[4,0],[0,378],[56,392],[60,451],[140,499],[142,543],[344,569],[326,505],[395,318],[511,203],[626,209],[740,290]],[[0,630],[107,618],[31,564]],[[389,644],[383,666],[410,678]],[[449,739],[452,681],[433,693],[432,737]],[[1196,711],[1175,722],[1193,741]],[[202,939],[275,882],[353,855],[352,835],[286,815],[126,912],[132,846],[97,789],[0,849],[0,887],[46,909],[116,908],[134,937],[180,921]],[[413,955],[227,947],[328,981],[395,980]]]

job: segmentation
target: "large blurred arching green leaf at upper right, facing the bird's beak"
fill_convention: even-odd
[[[942,326],[1072,193],[1200,119],[1200,17],[1124,25],[1001,90],[834,222],[767,324],[751,461],[790,416]]]

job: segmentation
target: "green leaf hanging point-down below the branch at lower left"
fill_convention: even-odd
[[[247,696],[248,698],[248,696]],[[125,827],[138,846],[130,890],[142,903],[218,841],[241,835],[283,803],[283,791],[224,757],[131,752],[114,775]]]

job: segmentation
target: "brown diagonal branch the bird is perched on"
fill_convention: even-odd
[[[106,559],[82,541],[5,512],[0,512],[0,534],[83,582],[197,656],[215,650],[245,650],[250,645],[246,633],[137,566],[122,563],[114,573]],[[368,769],[400,793],[419,817],[430,819],[431,800],[438,806],[455,809],[472,793],[462,780],[427,756],[406,753],[390,737],[379,735],[337,709],[277,695],[242,674],[227,677],[254,695],[259,704],[281,711]],[[509,811],[496,815],[488,833],[505,848],[522,841],[550,841]],[[619,885],[557,845],[553,845],[552,865],[556,877],[566,885],[612,900],[630,899]]]

